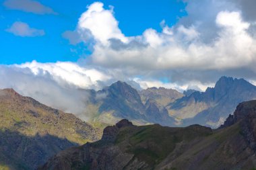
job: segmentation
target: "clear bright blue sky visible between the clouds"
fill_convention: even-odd
[[[4,1],[3,1],[4,2]],[[90,50],[80,43],[69,44],[63,32],[75,30],[80,15],[94,1],[39,1],[57,13],[38,15],[17,9],[0,7],[0,64],[20,64],[37,60],[38,62],[76,61],[90,54]],[[141,35],[148,28],[161,31],[160,22],[164,19],[168,26],[174,25],[179,17],[186,15],[182,1],[102,1],[104,7],[114,7],[115,18],[125,36]],[[43,36],[15,36],[6,30],[14,22],[24,22],[31,28],[44,30]],[[73,52],[73,51],[76,52]]]

